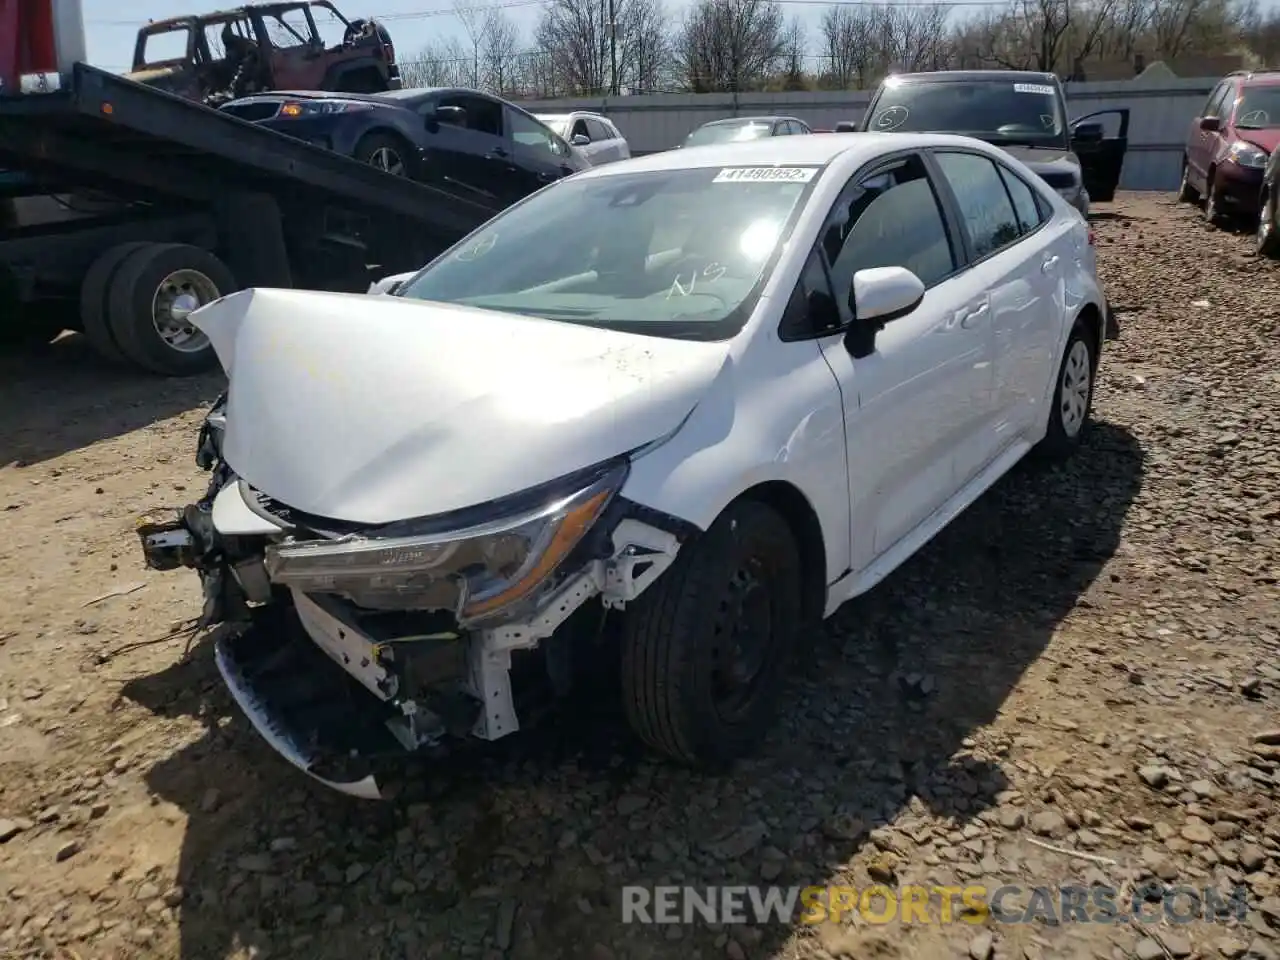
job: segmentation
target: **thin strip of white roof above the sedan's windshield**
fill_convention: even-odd
[[[707,166],[751,165],[826,165],[842,154],[860,154],[872,160],[886,150],[966,146],[995,150],[987,143],[950,133],[828,133],[823,137],[764,137],[735,143],[708,143],[659,154],[646,154],[631,160],[618,160],[593,166],[573,177],[612,177],[623,173],[653,170],[690,170]]]

